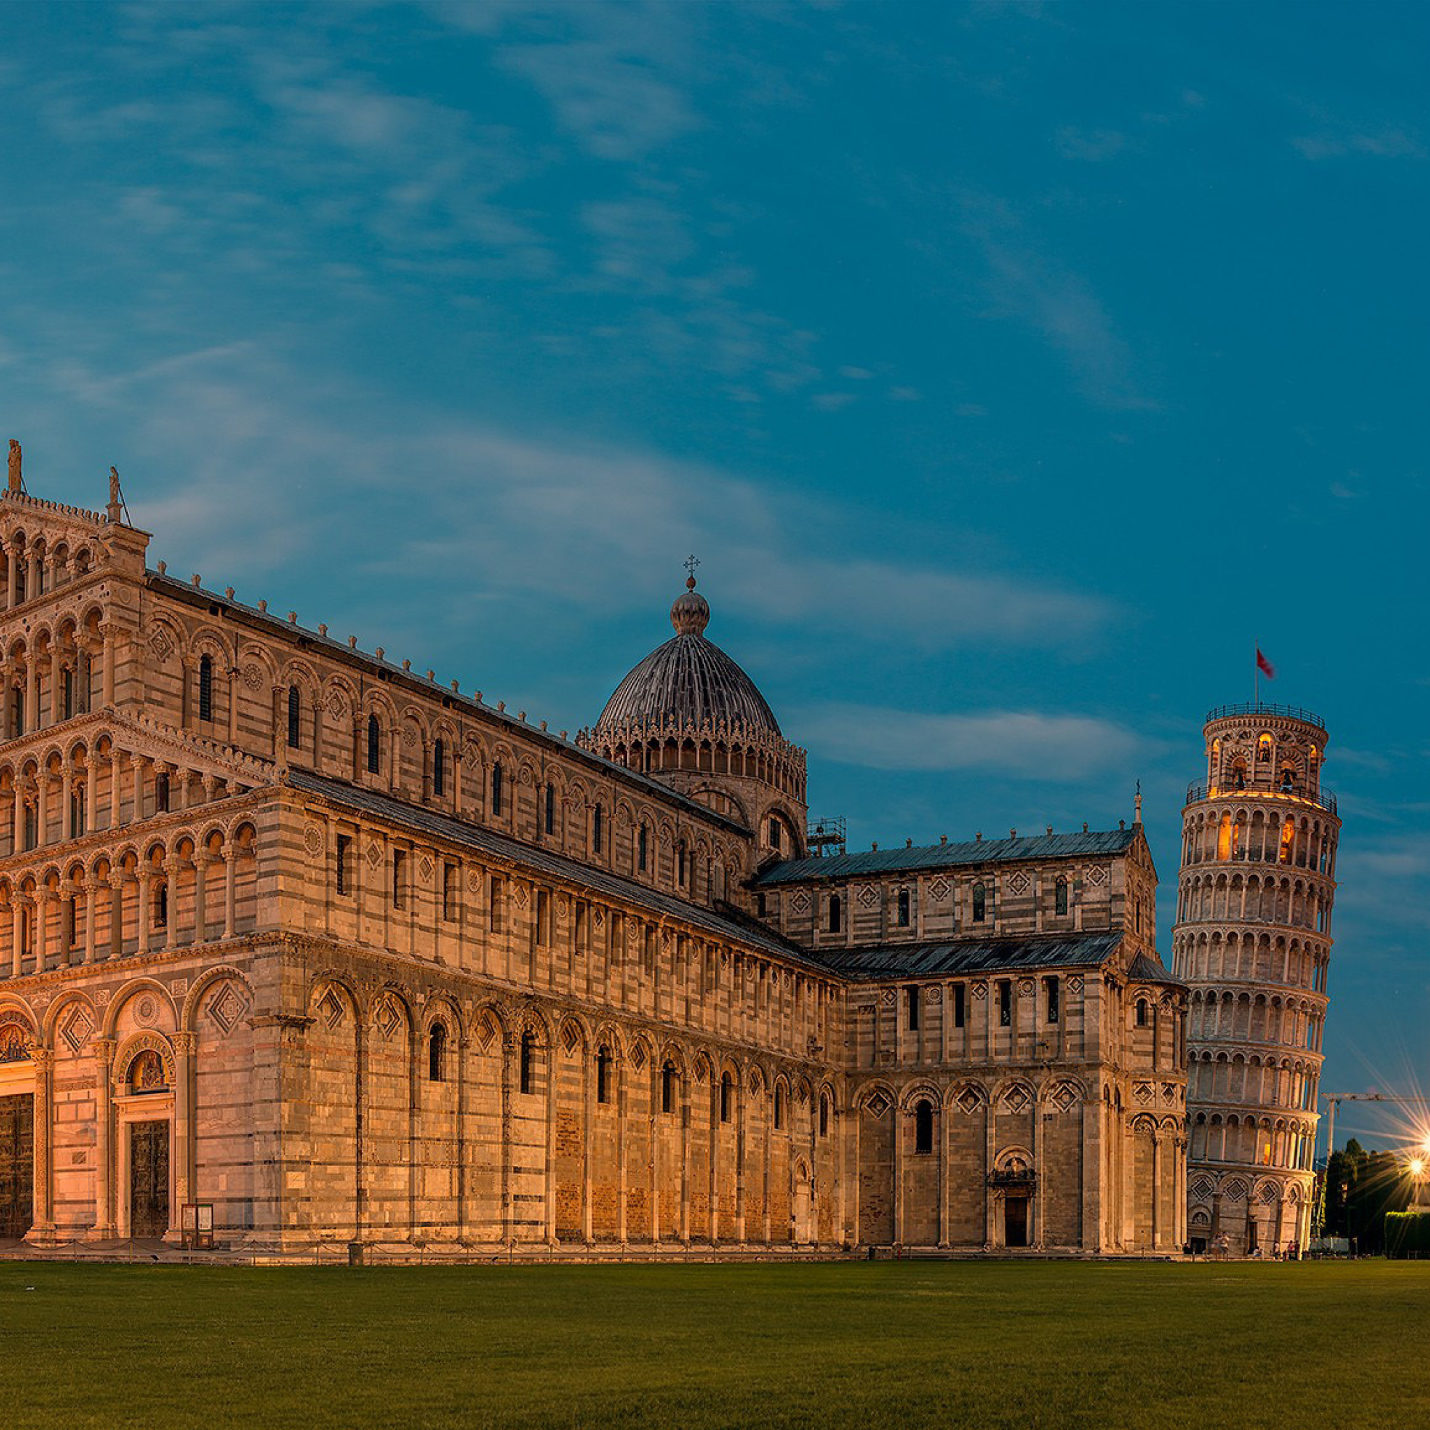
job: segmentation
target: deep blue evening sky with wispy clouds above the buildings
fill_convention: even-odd
[[[709,635],[851,847],[1320,712],[1333,1091],[1430,1090],[1430,11],[0,7],[0,422],[152,559],[576,729]],[[1343,1110],[1350,1131],[1374,1124]]]

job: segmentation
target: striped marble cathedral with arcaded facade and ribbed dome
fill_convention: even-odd
[[[1260,1160],[1187,1105],[1260,964],[1184,922],[1164,967],[1140,818],[811,845],[694,579],[568,736],[150,569],[117,479],[13,448],[0,538],[0,1238],[1154,1254],[1188,1127],[1194,1177]]]

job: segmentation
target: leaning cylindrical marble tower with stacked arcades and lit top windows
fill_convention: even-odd
[[[1223,705],[1205,738],[1173,928],[1191,994],[1187,1226],[1194,1247],[1270,1256],[1310,1234],[1340,819],[1310,711]]]

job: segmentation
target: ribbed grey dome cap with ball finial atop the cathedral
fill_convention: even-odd
[[[665,725],[725,725],[781,738],[755,682],[712,641],[711,608],[695,578],[671,606],[675,636],[652,651],[606,701],[595,734]]]

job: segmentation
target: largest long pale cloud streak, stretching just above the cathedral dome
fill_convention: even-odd
[[[1018,573],[919,559],[912,532],[827,495],[779,495],[754,476],[622,449],[382,409],[353,389],[306,393],[255,345],[142,370],[56,378],[64,399],[129,410],[156,480],[122,462],[136,521],[206,575],[282,578],[305,551],[343,549],[345,569],[466,601],[525,592],[533,609],[579,602],[588,619],[664,601],[671,565],[698,549],[724,569],[724,611],[771,612],[807,632],[912,652],[988,642],[1064,648],[1118,619],[1105,601]],[[336,489],[342,500],[333,500]],[[156,489],[157,488],[157,489]],[[891,559],[838,559],[882,523]],[[553,572],[561,573],[559,586]],[[214,578],[216,579],[216,578]],[[237,579],[237,578],[230,578]]]

